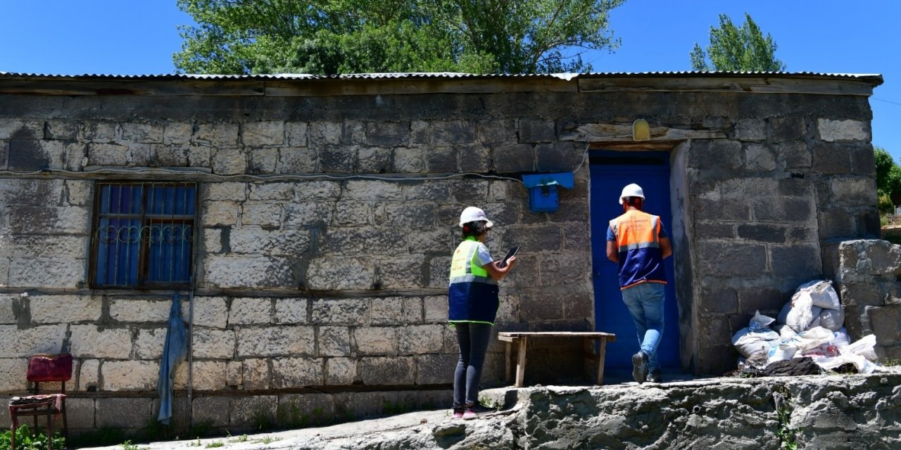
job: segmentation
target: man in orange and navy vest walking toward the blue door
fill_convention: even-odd
[[[642,186],[623,187],[619,202],[623,205],[623,215],[610,220],[607,258],[619,265],[623,303],[629,308],[638,331],[641,349],[632,356],[632,377],[638,383],[662,383],[657,347],[663,335],[667,284],[663,258],[672,255],[672,246],[660,217],[642,211]]]

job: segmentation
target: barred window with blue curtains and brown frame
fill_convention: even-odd
[[[99,183],[91,258],[94,287],[191,282],[195,183]]]

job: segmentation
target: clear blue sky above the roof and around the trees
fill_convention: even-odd
[[[690,70],[719,14],[751,14],[790,72],[882,74],[869,99],[873,144],[901,164],[901,2],[895,0],[627,0],[611,14],[614,53],[587,55],[596,72]],[[149,75],[175,72],[175,0],[0,0],[0,71]]]

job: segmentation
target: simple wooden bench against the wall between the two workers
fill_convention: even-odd
[[[607,342],[616,340],[613,333],[601,333],[599,331],[501,331],[497,333],[499,340],[506,342],[505,351],[505,368],[506,380],[509,382],[512,375],[512,366],[510,363],[513,347],[516,346],[516,383],[517,388],[523,387],[523,379],[525,378],[525,349],[528,346],[529,338],[582,338],[584,356],[593,361],[597,361],[597,384],[604,384],[604,356],[606,354]],[[598,350],[595,355],[594,344],[597,342]]]

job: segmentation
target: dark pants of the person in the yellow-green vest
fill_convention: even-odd
[[[491,338],[487,323],[456,323],[460,361],[453,375],[453,406],[469,406],[478,402],[478,380],[482,377],[485,352]]]

